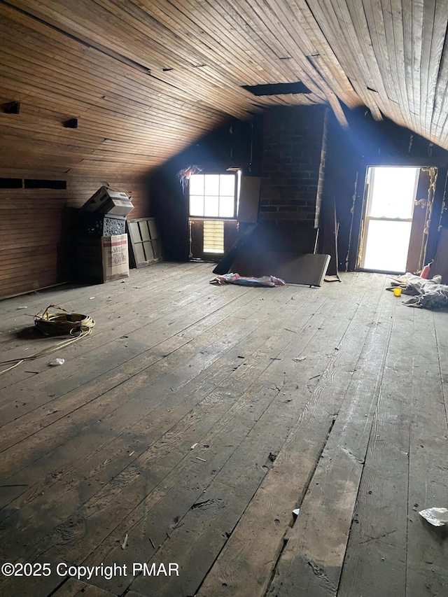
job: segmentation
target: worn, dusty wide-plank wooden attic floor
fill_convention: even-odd
[[[51,302],[96,321],[0,377],[1,563],[51,570],[0,576],[1,596],[446,596],[448,539],[418,510],[448,504],[448,314],[381,274],[244,288],[211,269],[0,304],[1,360],[55,342],[23,332]]]

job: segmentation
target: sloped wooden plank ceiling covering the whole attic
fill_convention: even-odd
[[[448,148],[448,0],[0,0],[3,168],[138,174],[230,117],[365,105]],[[309,93],[246,85],[302,81]],[[77,118],[77,128],[62,123]]]

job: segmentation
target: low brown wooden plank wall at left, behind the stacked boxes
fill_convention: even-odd
[[[7,176],[9,174],[9,176]],[[0,178],[22,178],[0,170]],[[43,178],[23,174],[23,178]],[[73,279],[76,212],[105,183],[131,192],[135,209],[132,216],[150,215],[146,185],[138,178],[99,178],[48,175],[66,180],[66,190],[13,188],[0,189],[0,298],[52,286]]]

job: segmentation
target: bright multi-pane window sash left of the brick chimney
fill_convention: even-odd
[[[235,218],[236,174],[190,176],[190,217]]]

